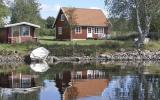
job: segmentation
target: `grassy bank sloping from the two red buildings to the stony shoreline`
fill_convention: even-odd
[[[160,50],[160,41],[150,41],[142,49]],[[55,41],[54,37],[40,37],[39,43],[25,44],[0,44],[0,55],[2,54],[29,54],[33,49],[43,46],[54,56],[95,56],[104,52],[122,50],[134,50],[131,40],[84,40],[84,41]]]

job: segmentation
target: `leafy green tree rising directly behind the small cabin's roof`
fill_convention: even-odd
[[[39,23],[40,4],[37,0],[14,0],[11,5],[11,23],[32,22]]]

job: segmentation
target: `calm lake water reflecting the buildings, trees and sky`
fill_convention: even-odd
[[[0,64],[0,100],[159,100],[160,63]]]

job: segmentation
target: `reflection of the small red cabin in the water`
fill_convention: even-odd
[[[35,100],[35,94],[40,88],[38,75],[15,71],[0,74],[0,100]],[[26,97],[26,94],[35,96]]]

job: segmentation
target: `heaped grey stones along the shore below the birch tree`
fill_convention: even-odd
[[[160,60],[160,51],[124,51],[124,52],[115,52],[113,54],[101,54],[98,59],[105,60]]]

